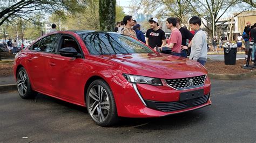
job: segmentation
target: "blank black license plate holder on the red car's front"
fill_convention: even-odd
[[[181,92],[179,94],[179,101],[187,101],[201,96],[204,96],[204,89]]]

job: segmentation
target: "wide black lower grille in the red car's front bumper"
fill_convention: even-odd
[[[187,101],[177,101],[177,102],[158,102],[158,101],[148,101],[145,100],[147,106],[151,109],[156,109],[164,112],[170,112],[175,110],[181,110],[190,108],[193,106],[199,106],[205,104],[208,101],[210,94],[190,99]]]

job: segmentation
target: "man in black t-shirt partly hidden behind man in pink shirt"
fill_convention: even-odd
[[[187,58],[186,50],[183,49],[183,47],[186,47],[187,39],[191,41],[194,35],[190,31],[188,31],[186,28],[180,26],[179,18],[175,18],[175,19],[177,21],[176,27],[178,28],[182,36],[180,56]]]

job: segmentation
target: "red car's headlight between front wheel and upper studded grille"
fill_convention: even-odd
[[[144,83],[155,86],[163,85],[160,78],[146,77],[146,76],[138,76],[138,75],[127,75],[123,74],[127,81],[131,83]]]

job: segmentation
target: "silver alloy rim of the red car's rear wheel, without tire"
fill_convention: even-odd
[[[25,95],[28,89],[28,77],[24,70],[20,70],[17,77],[18,92],[20,95]]]

